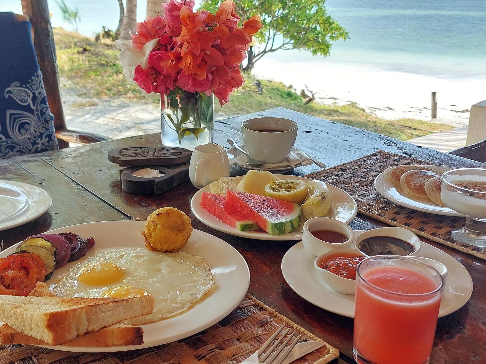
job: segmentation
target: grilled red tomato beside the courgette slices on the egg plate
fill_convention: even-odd
[[[0,260],[0,295],[28,296],[39,281],[35,260],[12,254]]]

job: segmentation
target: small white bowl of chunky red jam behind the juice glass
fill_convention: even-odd
[[[335,249],[319,255],[314,260],[314,270],[332,290],[354,295],[356,267],[364,259],[366,257],[357,248]]]

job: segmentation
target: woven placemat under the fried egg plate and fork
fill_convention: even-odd
[[[291,328],[288,335],[294,331],[300,333],[299,342],[313,340],[325,344],[294,363],[325,364],[339,356],[336,348],[258,299],[246,295],[238,307],[216,325],[174,343],[111,353],[78,353],[7,345],[0,346],[0,364],[237,364],[257,351],[282,324]]]

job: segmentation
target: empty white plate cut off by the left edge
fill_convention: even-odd
[[[0,180],[0,231],[32,221],[51,207],[51,196],[32,184]]]

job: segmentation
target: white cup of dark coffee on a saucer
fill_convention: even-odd
[[[297,123],[282,117],[256,117],[243,121],[242,136],[246,150],[254,160],[266,164],[280,163],[295,144]]]

